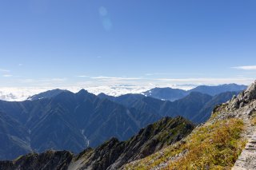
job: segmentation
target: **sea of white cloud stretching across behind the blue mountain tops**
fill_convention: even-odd
[[[99,77],[96,77],[99,78]],[[117,78],[117,77],[108,77]],[[47,80],[50,81],[51,79]],[[111,96],[120,96],[126,93],[142,93],[146,90],[153,89],[154,87],[170,87],[173,89],[192,89],[198,85],[221,85],[226,83],[237,83],[249,85],[254,81],[253,78],[184,78],[184,79],[152,79],[143,81],[113,81],[112,79],[106,79],[108,81],[101,81],[99,85],[96,81],[84,81],[76,82],[70,85],[63,85],[61,82],[49,83],[43,86],[28,86],[28,87],[1,87],[0,94],[2,93],[2,99],[6,101],[24,101],[26,98],[36,94],[42,93],[50,89],[67,89],[71,92],[77,93],[80,89],[86,89],[90,93],[106,93]],[[38,80],[26,79],[24,80],[29,84],[36,84]],[[44,80],[46,81],[46,79]],[[31,82],[31,83],[30,83]],[[43,82],[44,83],[44,82]],[[122,84],[127,83],[127,84]],[[187,84],[190,83],[190,84]],[[192,84],[193,83],[193,84]],[[42,81],[39,81],[42,85]],[[48,86],[47,86],[48,85]],[[10,95],[10,93],[12,95]],[[4,96],[3,96],[4,95]],[[1,95],[0,95],[1,98]]]

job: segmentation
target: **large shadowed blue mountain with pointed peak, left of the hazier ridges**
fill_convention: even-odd
[[[0,112],[0,130],[4,134],[0,149],[5,151],[1,152],[1,159],[50,148],[81,152],[112,136],[127,140],[161,118],[100,99],[86,90],[66,91],[37,101],[0,101]]]

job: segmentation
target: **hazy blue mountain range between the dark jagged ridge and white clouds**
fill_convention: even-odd
[[[171,102],[142,94],[111,97],[84,89],[78,93],[55,89],[34,95],[30,101],[0,101],[0,159],[50,148],[78,153],[113,136],[127,140],[162,117],[182,116],[201,123],[215,105],[237,93],[191,92]]]

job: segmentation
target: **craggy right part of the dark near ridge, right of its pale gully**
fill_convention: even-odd
[[[142,159],[169,144],[174,144],[190,134],[194,125],[182,117],[165,117],[142,128],[136,136],[125,142],[113,138],[93,152],[86,151],[78,156],[74,164],[82,169],[118,169],[123,164]]]

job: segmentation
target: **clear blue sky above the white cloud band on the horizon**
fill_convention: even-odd
[[[248,84],[254,0],[0,0],[0,87]]]

